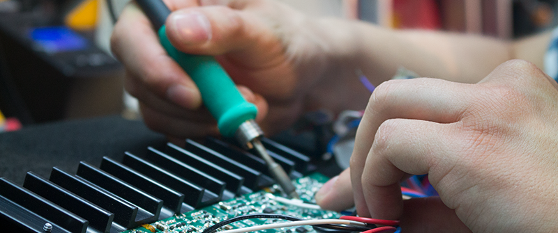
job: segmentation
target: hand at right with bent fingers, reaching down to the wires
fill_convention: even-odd
[[[557,232],[557,83],[508,61],[477,84],[439,79],[378,86],[350,170],[326,183],[326,209],[400,219],[403,232]],[[439,198],[401,199],[428,174]],[[342,200],[342,201],[340,201]]]

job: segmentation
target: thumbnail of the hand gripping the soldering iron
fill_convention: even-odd
[[[176,13],[171,17],[174,30],[186,45],[201,44],[211,40],[211,24],[202,13]]]

